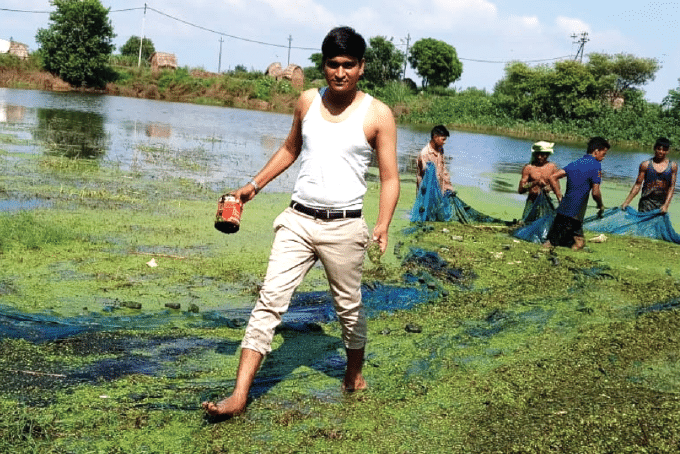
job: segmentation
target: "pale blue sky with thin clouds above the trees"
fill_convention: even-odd
[[[648,100],[661,102],[680,85],[680,4],[671,1],[151,0],[146,15],[141,0],[102,4],[111,8],[117,47],[143,30],[156,50],[174,53],[181,66],[207,71],[217,71],[218,65],[264,71],[270,63],[285,66],[289,61],[309,66],[309,55],[326,32],[350,25],[367,40],[393,38],[401,50],[407,41],[422,38],[451,44],[463,62],[456,88],[492,91],[508,61],[535,65],[574,58],[578,45],[571,36],[582,32],[588,33],[586,58],[590,52],[605,52],[659,60],[662,69],[643,87]],[[118,11],[130,8],[139,9]],[[50,2],[0,0],[0,38],[35,50],[36,31],[48,26],[49,15],[8,9],[51,11]],[[410,68],[406,76],[418,79]]]

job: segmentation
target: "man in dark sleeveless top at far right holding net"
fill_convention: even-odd
[[[638,177],[630,194],[621,205],[621,209],[625,209],[630,204],[642,187],[638,211],[659,209],[662,213],[668,212],[678,176],[678,164],[668,160],[670,147],[671,142],[665,137],[657,139],[654,144],[654,157],[640,164]]]

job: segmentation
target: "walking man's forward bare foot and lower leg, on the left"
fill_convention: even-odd
[[[248,392],[255,380],[255,374],[262,364],[264,356],[256,352],[244,348],[241,350],[241,358],[238,364],[238,372],[236,374],[236,386],[231,396],[215,403],[203,402],[203,408],[210,416],[232,416],[243,413],[248,402]]]

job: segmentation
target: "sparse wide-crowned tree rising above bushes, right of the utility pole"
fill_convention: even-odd
[[[654,80],[661,68],[654,58],[639,58],[631,54],[588,55],[588,70],[598,81],[602,96],[614,100],[624,98],[626,91],[640,89]]]

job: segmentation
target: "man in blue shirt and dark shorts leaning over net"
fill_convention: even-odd
[[[555,192],[560,206],[553,221],[544,247],[566,246],[577,251],[583,249],[586,240],[583,236],[583,218],[588,206],[588,196],[593,192],[597,209],[604,211],[600,182],[602,181],[602,160],[611,146],[602,137],[593,137],[588,142],[587,154],[553,173],[550,187]],[[567,177],[567,190],[564,197],[560,192],[559,179]]]

